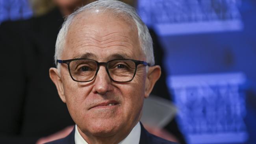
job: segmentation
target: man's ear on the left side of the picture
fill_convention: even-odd
[[[53,83],[55,84],[55,86],[58,90],[59,97],[61,98],[61,100],[64,103],[66,103],[65,93],[64,93],[64,89],[63,89],[63,83],[59,76],[58,69],[50,68],[49,74],[50,74],[50,78],[52,79]]]

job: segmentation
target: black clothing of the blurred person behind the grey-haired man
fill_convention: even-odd
[[[55,43],[62,23],[56,8],[41,17],[0,25],[0,143],[34,144],[40,137],[74,125],[48,73],[55,66]],[[154,31],[150,33],[156,64],[162,66],[162,49]],[[170,100],[164,70],[152,94]],[[184,143],[175,121],[167,130]]]

